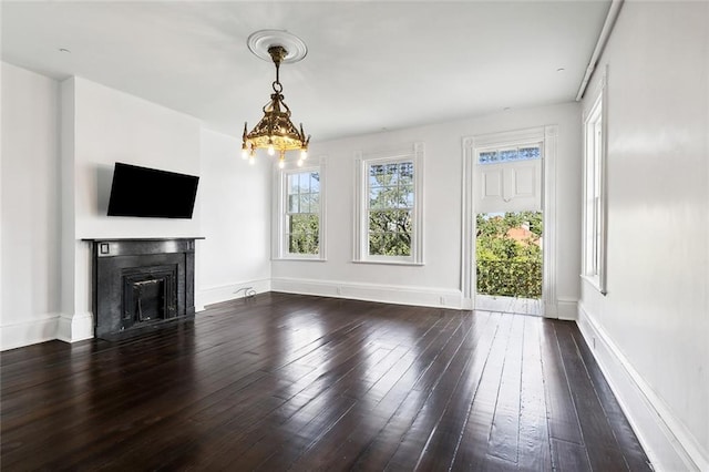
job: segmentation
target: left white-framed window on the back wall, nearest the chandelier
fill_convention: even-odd
[[[323,259],[322,170],[285,170],[280,178],[278,258]]]

